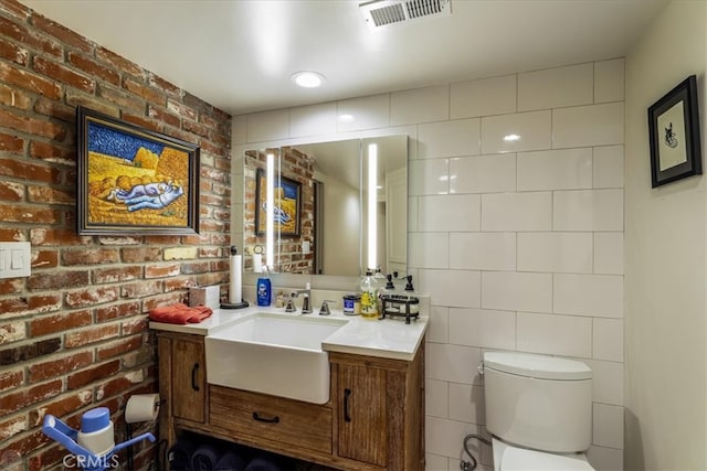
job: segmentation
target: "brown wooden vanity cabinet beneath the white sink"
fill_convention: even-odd
[[[209,385],[203,336],[157,340],[168,447],[189,430],[339,470],[424,470],[424,340],[410,362],[330,352],[324,405]]]

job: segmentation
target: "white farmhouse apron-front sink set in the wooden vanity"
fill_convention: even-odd
[[[207,381],[307,403],[329,400],[321,341],[342,319],[257,312],[205,338]]]

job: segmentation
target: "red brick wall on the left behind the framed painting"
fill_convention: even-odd
[[[201,147],[199,235],[76,234],[78,105]],[[46,414],[78,427],[107,406],[124,439],[127,398],[157,390],[146,312],[228,282],[230,133],[225,113],[0,0],[0,240],[32,244],[32,275],[0,280],[0,467],[61,464]],[[154,450],[138,447],[137,469]]]

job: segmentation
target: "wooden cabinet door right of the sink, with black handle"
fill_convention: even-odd
[[[339,365],[339,456],[384,467],[388,463],[386,371]]]

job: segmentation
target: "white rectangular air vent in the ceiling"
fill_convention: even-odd
[[[451,0],[373,0],[359,8],[372,30],[452,13]]]

